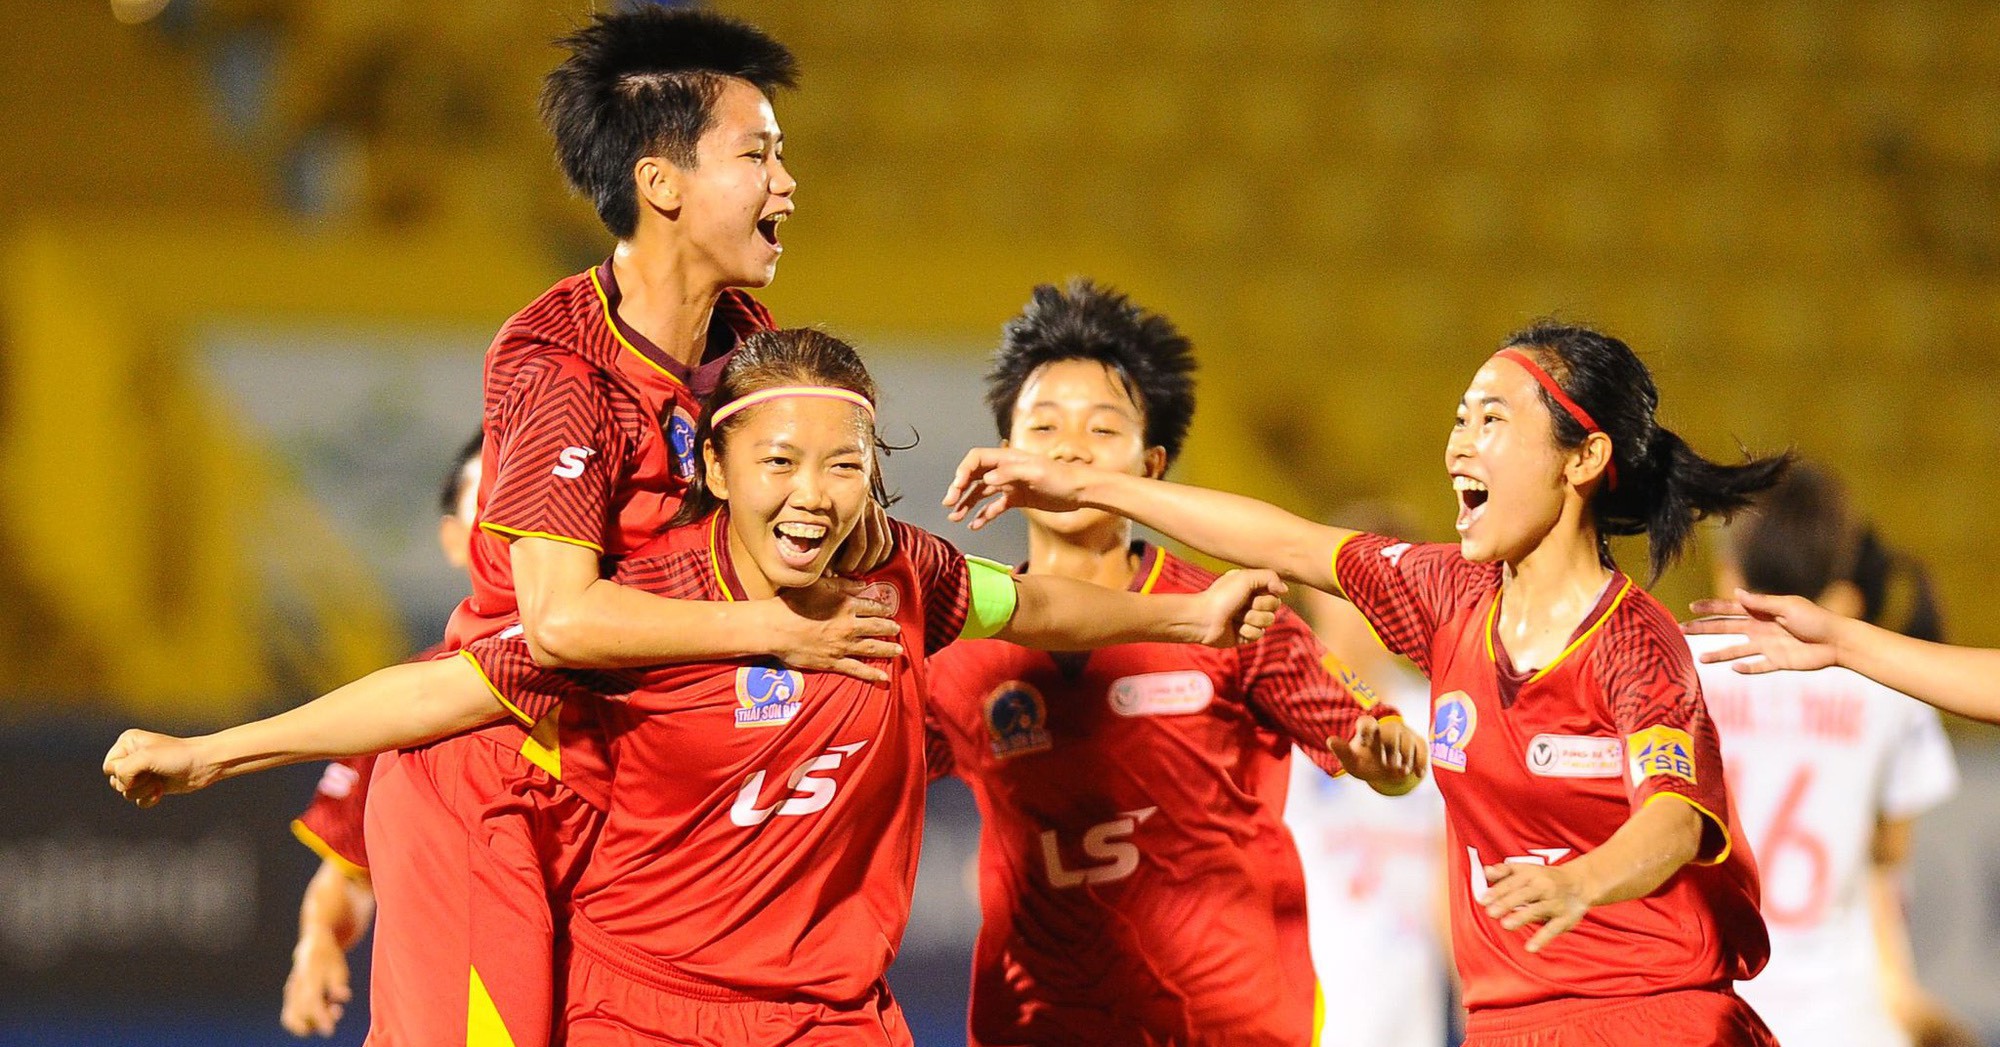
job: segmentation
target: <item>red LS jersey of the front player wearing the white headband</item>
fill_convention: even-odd
[[[742,599],[724,527],[680,527],[614,577]],[[950,543],[892,527],[894,557],[860,577],[902,625],[888,685],[762,659],[562,673],[512,637],[466,651],[526,719],[584,689],[608,699],[612,797],[574,893],[578,947],[762,999],[874,991],[916,885],[926,655],[960,635],[970,599]]]

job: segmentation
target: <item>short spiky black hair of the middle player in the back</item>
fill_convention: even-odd
[[[1036,286],[1000,330],[986,374],[986,406],[1002,440],[1014,430],[1020,388],[1062,360],[1090,360],[1116,374],[1144,414],[1146,446],[1166,448],[1168,462],[1180,458],[1194,422],[1194,350],[1168,318],[1082,278]]]

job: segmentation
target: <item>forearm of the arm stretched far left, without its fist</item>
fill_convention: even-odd
[[[308,759],[424,745],[504,715],[462,657],[390,665],[296,709],[192,739],[208,771],[196,777],[220,781]]]

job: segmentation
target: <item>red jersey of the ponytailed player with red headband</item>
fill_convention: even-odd
[[[1614,573],[1568,647],[1516,673],[1494,635],[1498,563],[1364,533],[1334,551],[1334,575],[1382,643],[1430,677],[1468,1009],[1718,987],[1764,967],[1756,861],[1694,659],[1660,601]],[[1536,925],[1504,931],[1478,907],[1480,865],[1574,859],[1662,797],[1694,805],[1704,833],[1696,861],[1652,895],[1592,909],[1534,955]]]

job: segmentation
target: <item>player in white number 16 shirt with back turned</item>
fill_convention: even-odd
[[[1800,466],[1728,527],[1716,573],[1722,591],[1810,595],[1874,615],[1902,589],[1898,617],[1936,629],[1914,569],[1854,518],[1830,474]],[[1696,653],[1732,641],[1690,637]],[[1770,965],[1744,999],[1784,1043],[1944,1043],[1954,1023],[1916,981],[1902,915],[1916,815],[1958,787],[1938,713],[1844,669],[1702,665],[1702,691],[1764,873]]]

